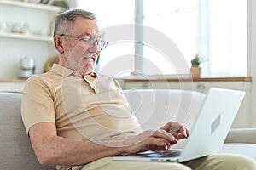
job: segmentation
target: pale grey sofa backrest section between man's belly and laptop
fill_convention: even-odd
[[[125,96],[143,130],[158,128],[170,120],[191,129],[205,94],[180,89],[131,89]]]

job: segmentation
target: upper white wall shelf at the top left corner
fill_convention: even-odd
[[[38,4],[38,3],[24,3],[24,2],[19,2],[19,1],[0,0],[0,4],[12,5],[12,6],[23,7],[23,8],[34,8],[34,9],[39,9],[39,10],[47,10],[47,11],[51,11],[51,12],[55,12],[55,13],[58,13],[61,11],[60,7]]]

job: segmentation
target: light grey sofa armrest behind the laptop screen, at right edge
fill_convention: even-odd
[[[256,128],[233,128],[224,143],[256,144]]]

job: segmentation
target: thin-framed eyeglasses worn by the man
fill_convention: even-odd
[[[70,36],[67,34],[61,34],[60,36],[73,37],[75,39],[78,39],[81,42],[88,43],[90,46],[97,44],[97,48],[100,51],[102,51],[102,49],[104,49],[108,46],[108,42],[105,42],[103,40],[96,41],[96,40],[92,39],[91,37],[76,37],[76,36]]]

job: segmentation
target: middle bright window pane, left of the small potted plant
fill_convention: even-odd
[[[144,1],[144,25],[150,26],[177,45],[183,54],[185,65],[189,68],[190,59],[195,55],[195,40],[197,28],[197,0],[147,0]],[[160,44],[161,46],[168,44]],[[171,53],[172,55],[172,53]],[[174,52],[173,55],[176,55]],[[180,74],[172,63],[172,56],[163,56],[153,48],[144,47],[144,57],[159,65],[159,70],[150,70],[144,63],[145,74]],[[176,56],[175,56],[176,58]],[[168,61],[169,59],[169,61]],[[177,66],[183,66],[177,65]],[[147,69],[147,70],[146,70]],[[188,73],[189,69],[187,69]]]

